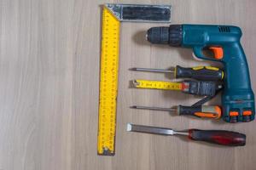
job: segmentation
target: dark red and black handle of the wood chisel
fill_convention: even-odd
[[[246,144],[245,134],[224,130],[189,129],[189,139],[229,146],[243,146]]]

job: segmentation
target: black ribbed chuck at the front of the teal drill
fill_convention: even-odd
[[[178,47],[183,41],[183,26],[171,25],[169,27],[152,27],[147,31],[147,40],[156,44],[169,44]]]

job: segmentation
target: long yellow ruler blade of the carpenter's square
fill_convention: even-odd
[[[102,13],[102,56],[98,122],[98,154],[114,155],[116,99],[119,67],[119,20],[108,10]]]

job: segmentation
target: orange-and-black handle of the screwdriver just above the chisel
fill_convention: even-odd
[[[218,105],[184,106],[178,105],[179,115],[197,116],[202,118],[218,119],[221,117],[221,109]]]

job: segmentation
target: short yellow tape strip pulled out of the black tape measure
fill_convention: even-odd
[[[153,88],[161,90],[182,90],[181,82],[160,82],[148,80],[134,80],[135,88]]]

